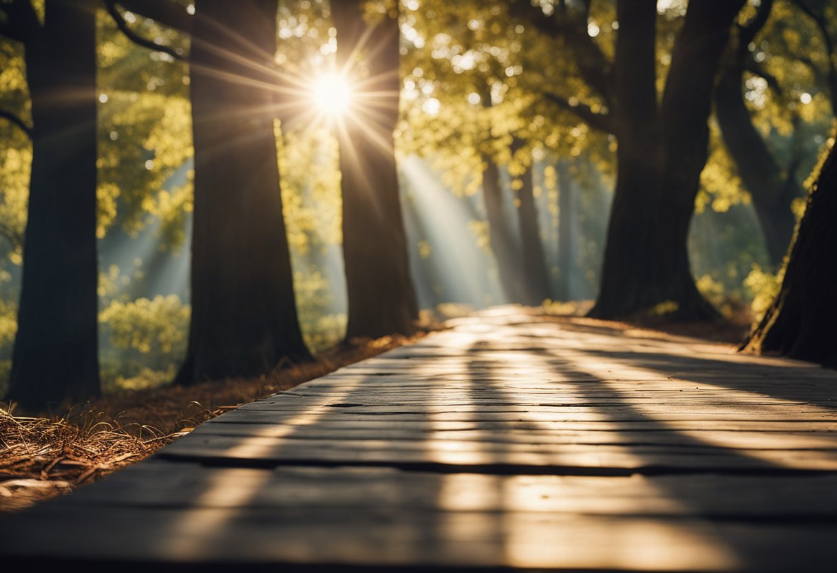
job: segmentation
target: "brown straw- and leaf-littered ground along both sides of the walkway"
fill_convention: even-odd
[[[570,304],[533,307],[526,312],[537,321],[583,323],[650,338],[703,338],[731,347],[740,342],[750,324],[747,312],[717,323],[620,323],[578,316],[585,310],[584,304]],[[321,354],[315,363],[293,365],[260,378],[105,395],[94,402],[75,405],[61,416],[16,416],[13,411],[0,408],[0,511],[16,511],[69,493],[145,459],[225,411],[411,343],[441,328],[444,323],[425,320],[419,333],[412,337],[357,341]]]

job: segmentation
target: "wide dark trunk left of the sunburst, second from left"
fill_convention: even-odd
[[[270,81],[277,0],[198,0],[192,320],[177,383],[310,359],[296,316]]]

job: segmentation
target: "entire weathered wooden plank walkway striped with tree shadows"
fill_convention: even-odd
[[[509,309],[452,326],[4,516],[0,563],[837,568],[833,370]]]

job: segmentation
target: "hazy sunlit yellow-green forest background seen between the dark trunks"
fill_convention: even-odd
[[[192,3],[176,4],[194,12]],[[370,3],[369,9],[379,4],[386,3]],[[562,4],[540,9],[548,13]],[[567,4],[577,11],[573,22],[582,22],[584,45],[613,61],[616,4]],[[32,6],[43,20],[44,3]],[[660,0],[656,6],[655,73],[662,93],[686,2]],[[419,307],[443,316],[504,302],[560,310],[598,295],[616,174],[616,137],[603,125],[608,102],[570,57],[577,38],[550,34],[537,14],[521,18],[517,8],[435,0],[400,5],[395,142],[408,258]],[[837,109],[835,9],[814,0],[762,0],[737,14],[737,32],[721,61],[709,155],[688,239],[696,286],[727,317],[749,308],[758,317],[777,291],[790,235],[771,236],[778,226],[766,223],[769,209],[759,201],[767,186],[758,176],[778,189],[768,199],[778,203],[778,218],[789,219],[792,230],[804,210],[805,179],[828,142]],[[186,34],[124,8],[120,14],[141,38],[187,53]],[[102,383],[106,392],[136,390],[171,381],[186,354],[190,75],[187,63],[169,52],[128,39],[104,3],[95,23]],[[327,3],[280,3],[277,33],[277,84],[286,75],[313,83],[336,54]],[[3,39],[0,59],[4,394],[17,331],[32,117],[22,45]],[[308,348],[318,353],[341,341],[347,321],[339,149],[320,116],[276,121],[275,133],[300,327]],[[736,133],[750,139],[742,145]],[[531,254],[526,232],[537,228],[540,268],[524,268],[522,261],[531,261],[525,255],[509,262],[498,252],[483,196],[491,168],[504,198],[503,240],[510,250]]]

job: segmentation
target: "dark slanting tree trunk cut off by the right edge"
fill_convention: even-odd
[[[837,366],[837,146],[811,188],[778,297],[745,347]]]

